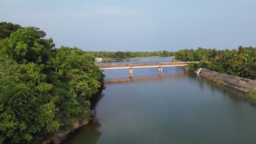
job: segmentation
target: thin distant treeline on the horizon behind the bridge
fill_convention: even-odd
[[[110,51],[85,51],[86,54],[94,55],[95,57],[101,57],[103,59],[107,58],[132,58],[132,57],[168,57],[174,56],[175,52],[172,51],[117,51],[117,52],[110,52]]]

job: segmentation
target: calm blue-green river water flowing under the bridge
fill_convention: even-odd
[[[172,57],[110,63],[170,62]],[[105,63],[106,64],[106,63]],[[127,79],[128,69],[104,71]],[[244,94],[179,67],[133,69],[152,80],[109,83],[95,97],[94,117],[63,143],[256,143],[256,107]]]

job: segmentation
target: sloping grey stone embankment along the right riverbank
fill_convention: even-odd
[[[196,69],[194,72],[197,73],[197,71],[199,71],[199,69]],[[242,77],[232,76],[228,74],[219,74],[216,71],[208,70],[205,68],[202,68],[199,71],[199,75],[205,77],[215,77],[216,79],[222,80],[229,86],[240,89],[241,91],[256,91],[255,80],[245,79]]]

